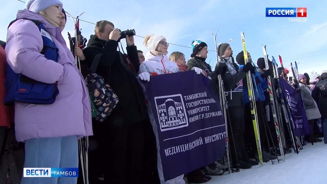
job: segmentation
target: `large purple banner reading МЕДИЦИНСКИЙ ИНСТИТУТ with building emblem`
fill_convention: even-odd
[[[186,71],[151,76],[144,85],[164,181],[224,156],[225,121],[210,79]]]

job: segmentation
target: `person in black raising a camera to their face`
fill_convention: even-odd
[[[95,34],[90,36],[83,53],[89,68],[95,58],[99,58],[95,73],[103,77],[119,99],[104,122],[93,119],[94,134],[99,136],[104,180],[106,183],[136,184],[141,183],[144,124],[148,114],[143,89],[136,79],[140,63],[134,45],[135,32],[124,31],[126,37],[121,33],[113,23],[98,21]],[[124,38],[127,55],[117,51],[118,43]]]

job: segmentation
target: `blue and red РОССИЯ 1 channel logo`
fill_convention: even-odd
[[[307,8],[266,8],[266,17],[307,17]]]

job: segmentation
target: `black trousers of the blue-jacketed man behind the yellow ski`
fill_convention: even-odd
[[[260,143],[261,147],[266,144],[267,136],[266,136],[266,129],[265,129],[265,119],[264,119],[264,110],[261,107],[264,107],[264,105],[261,105],[261,101],[256,101],[256,110],[257,110],[257,122],[259,126],[259,134],[260,134]],[[257,153],[257,143],[255,139],[254,134],[254,128],[253,128],[253,122],[251,117],[251,106],[250,103],[245,105],[245,141],[249,146],[251,147],[253,153]]]

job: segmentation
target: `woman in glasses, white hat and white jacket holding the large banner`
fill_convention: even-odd
[[[146,53],[145,61],[140,65],[139,70],[139,78],[144,81],[150,81],[150,75],[161,75],[161,74],[169,74],[180,72],[177,64],[175,62],[169,61],[167,56],[168,54],[168,46],[169,44],[166,41],[166,38],[161,35],[148,35],[144,40],[145,46],[149,49]],[[202,69],[194,67],[192,68],[197,72],[197,74],[201,74]],[[148,113],[152,114],[152,110],[149,104],[147,104]],[[150,118],[151,120],[151,118]],[[152,123],[153,130],[156,134],[156,124]],[[156,138],[157,139],[157,138]],[[157,144],[159,140],[156,141]],[[158,147],[158,145],[157,145]],[[158,174],[160,178],[161,184],[184,184],[185,181],[183,179],[184,175],[180,175],[176,178],[170,179],[168,181],[164,181],[161,160],[158,159]]]

